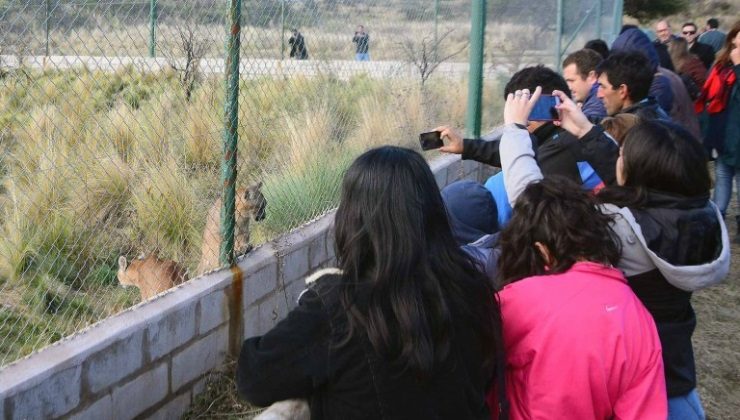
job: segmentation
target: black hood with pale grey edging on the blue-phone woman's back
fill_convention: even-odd
[[[666,281],[693,292],[726,278],[730,240],[717,206],[708,199],[677,202],[667,195],[651,197],[646,209],[606,206],[624,217]]]

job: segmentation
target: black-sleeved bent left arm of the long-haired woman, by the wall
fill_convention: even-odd
[[[236,370],[239,395],[258,406],[308,398],[326,379],[329,318],[312,289],[298,307],[261,337],[244,341]]]

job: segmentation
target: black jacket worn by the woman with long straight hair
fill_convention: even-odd
[[[347,332],[339,300],[341,274],[321,277],[299,297],[298,307],[261,337],[242,345],[239,394],[266,406],[305,398],[311,419],[489,419],[485,393],[492,372],[474,326],[455,322],[451,356],[433,377],[399,373],[373,350],[365,334]],[[359,304],[369,296],[359,293]]]

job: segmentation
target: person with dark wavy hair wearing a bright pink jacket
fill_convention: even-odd
[[[490,391],[493,418],[666,419],[660,340],[613,267],[610,220],[565,178],[517,199],[500,237],[506,401]]]

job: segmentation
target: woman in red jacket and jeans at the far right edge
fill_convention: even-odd
[[[696,111],[706,111],[704,143],[717,151],[714,202],[724,215],[732,197],[732,179],[740,188],[740,21],[735,22],[717,54],[714,66],[696,100]],[[740,201],[740,196],[738,196]],[[735,216],[740,243],[740,215]]]

